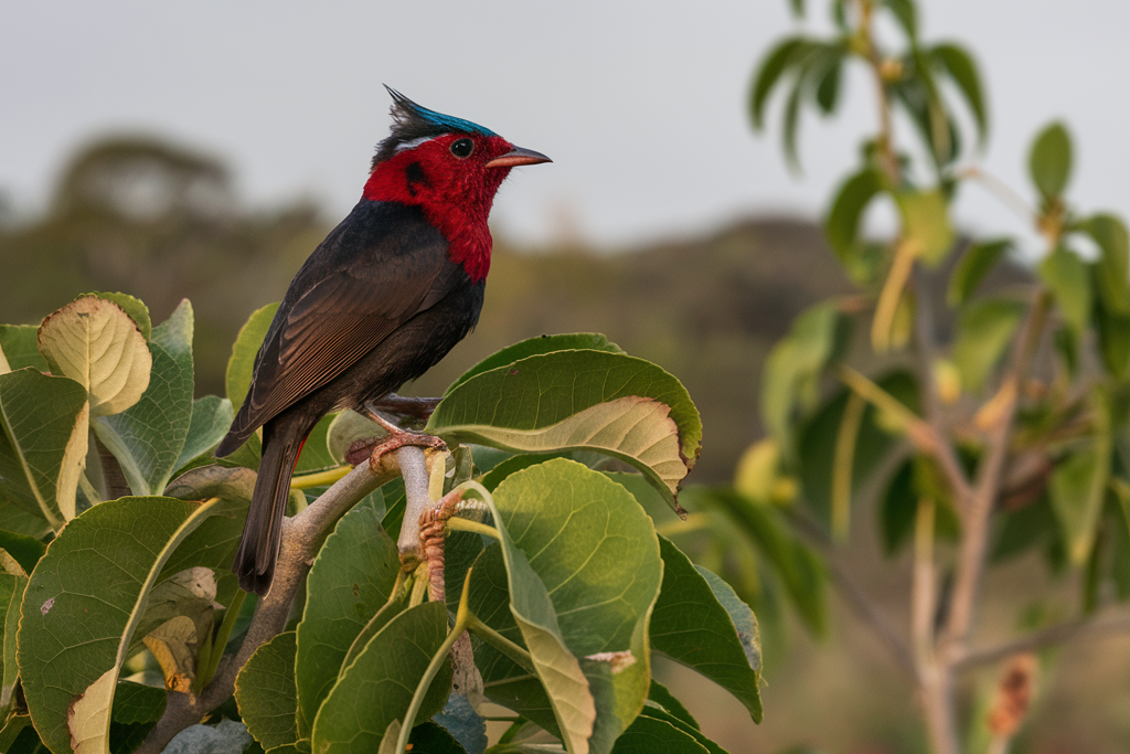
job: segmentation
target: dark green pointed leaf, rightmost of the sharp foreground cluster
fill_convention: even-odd
[[[659,547],[663,586],[651,617],[653,648],[729,691],[760,722],[760,647],[753,612],[668,539],[660,537]]]

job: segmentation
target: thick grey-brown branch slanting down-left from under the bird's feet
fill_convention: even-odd
[[[408,451],[408,452],[406,452]],[[412,452],[415,451],[415,452]],[[235,690],[235,677],[247,659],[263,643],[278,635],[299,587],[310,572],[325,535],[350,508],[401,470],[425,466],[419,448],[401,448],[383,457],[376,468],[362,463],[311,503],[293,519],[282,521],[282,545],[270,591],[259,603],[243,643],[219,664],[216,676],[199,696],[169,692],[165,713],[136,754],[159,754],[181,730],[200,722],[226,701]],[[425,477],[427,471],[424,471]]]

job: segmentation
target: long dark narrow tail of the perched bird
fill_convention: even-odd
[[[240,587],[260,596],[267,593],[275,578],[275,563],[282,543],[282,518],[290,496],[290,477],[306,432],[268,423],[263,427],[263,456],[259,461],[255,489],[247,509],[240,549],[232,571]]]

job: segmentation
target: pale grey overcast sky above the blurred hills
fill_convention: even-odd
[[[496,233],[623,246],[709,233],[753,214],[818,217],[875,128],[871,83],[801,123],[803,173],[780,148],[780,98],[755,135],[755,63],[798,28],[786,0],[103,0],[0,7],[0,191],[34,214],[66,161],[108,133],[157,133],[228,163],[249,208],[313,199],[348,213],[386,133],[389,84],[549,155],[514,171]],[[801,26],[826,31],[826,2]],[[1024,196],[1033,135],[1063,119],[1070,197],[1130,214],[1130,3],[925,0],[922,37],[981,64],[989,148],[975,161]],[[909,136],[906,123],[896,123]],[[1020,233],[979,189],[958,218]],[[873,220],[881,227],[881,216]],[[1032,234],[1025,237],[1029,240]]]

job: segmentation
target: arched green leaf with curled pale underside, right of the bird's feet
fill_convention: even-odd
[[[649,477],[677,506],[702,421],[686,388],[642,358],[601,350],[529,356],[452,390],[427,432],[519,452],[596,450]]]

